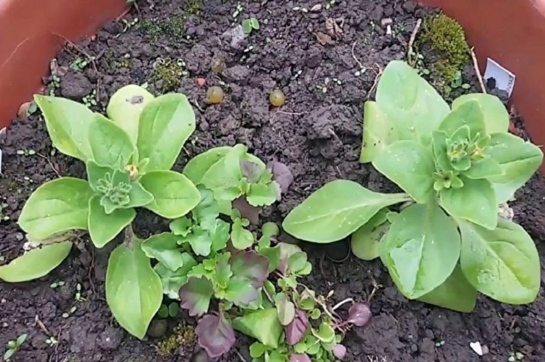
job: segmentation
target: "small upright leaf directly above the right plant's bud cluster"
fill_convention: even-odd
[[[474,137],[477,133],[481,136],[486,134],[485,116],[476,101],[467,101],[452,109],[452,112],[439,125],[439,130],[450,136],[460,127],[466,125],[470,128],[471,137]]]

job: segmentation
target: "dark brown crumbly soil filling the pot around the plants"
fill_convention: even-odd
[[[207,148],[237,142],[247,144],[263,159],[279,159],[290,166],[295,183],[287,198],[268,211],[274,220],[280,220],[332,179],[352,179],[373,190],[391,190],[392,185],[372,167],[358,162],[363,102],[373,95],[379,67],[404,58],[416,18],[430,10],[418,8],[411,1],[387,0],[337,0],[330,10],[324,3],[322,11],[307,13],[293,8],[310,10],[315,3],[264,0],[241,4],[243,16],[237,23],[245,16],[256,16],[261,30],[232,47],[229,36],[222,34],[231,28],[234,1],[204,1],[199,16],[188,15],[189,5],[184,1],[138,1],[140,13],[133,11],[125,19],[130,22],[134,16],[140,22],[125,31],[122,22],[110,23],[98,31],[96,40],[82,42],[78,48],[97,58],[97,69],[90,65],[83,73],[70,71],[62,77],[56,94],[81,99],[95,90],[97,110],[103,110],[109,96],[128,83],[147,82],[156,93],[178,90],[187,94],[195,105],[198,130],[175,168],[181,170],[189,156]],[[178,16],[187,16],[182,25]],[[326,16],[343,19],[343,35],[333,44],[322,45],[315,33],[326,32]],[[392,19],[393,36],[386,35],[380,26],[383,18]],[[160,28],[168,34],[156,36],[153,25],[155,31]],[[78,57],[84,59],[80,50],[69,47],[60,53],[60,66],[69,66]],[[183,60],[189,75],[154,77],[153,65],[158,57],[167,62]],[[227,70],[221,75],[210,71],[214,57],[226,62]],[[358,62],[368,69],[356,76]],[[473,74],[471,66],[464,74]],[[225,101],[208,105],[206,88],[197,86],[195,77],[203,77],[207,85],[222,86]],[[476,86],[475,79],[471,81]],[[269,92],[276,87],[287,96],[280,109],[267,103]],[[520,120],[516,125],[523,128]],[[16,118],[0,145],[4,152],[0,203],[8,205],[3,212],[11,218],[0,224],[0,253],[10,260],[20,253],[25,241],[15,220],[30,192],[57,177],[57,172],[82,177],[84,168],[58,153],[51,155],[51,142],[39,116]],[[18,155],[18,150],[34,150],[36,155]],[[536,175],[518,192],[512,205],[516,220],[532,235],[542,257],[544,199],[544,181]],[[151,214],[138,218],[142,236],[165,225]],[[130,337],[108,311],[104,278],[113,245],[108,250],[94,250],[88,242],[82,245],[40,281],[0,283],[0,346],[28,333],[29,339],[17,352],[15,362],[160,361],[154,348],[156,340]],[[542,361],[545,356],[543,291],[529,306],[502,305],[481,297],[474,313],[455,313],[402,298],[379,261],[364,263],[350,257],[337,264],[324,259],[324,249],[308,246],[306,250],[314,266],[308,285],[322,293],[334,289],[337,301],[349,296],[366,300],[374,285],[379,286],[371,300],[375,315],[372,323],[346,339],[348,361],[507,361],[513,351],[522,352],[528,362]],[[51,289],[53,281],[64,281],[65,285]],[[77,283],[83,287],[85,301],[75,301]],[[77,307],[75,312],[63,318],[62,314],[73,306]],[[45,331],[36,326],[38,319],[47,334],[58,339],[56,346],[46,344]],[[444,344],[440,345],[441,341]],[[489,353],[479,357],[470,348],[472,341],[480,341]],[[246,343],[242,337],[237,349],[249,360]],[[228,360],[240,358],[233,352]]]

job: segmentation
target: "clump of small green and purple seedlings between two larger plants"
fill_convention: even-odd
[[[265,222],[259,238],[247,229],[245,214],[256,224],[261,207],[280,200],[293,181],[289,169],[276,161],[266,166],[238,144],[197,155],[184,174],[201,192],[199,205],[142,249],[157,261],[163,293],[199,318],[199,346],[217,359],[239,331],[257,339],[250,347],[255,362],[333,361],[344,333],[363,326],[370,311],[353,303],[341,318],[335,309],[352,299],[331,308],[328,298],[302,285],[298,279],[311,272],[311,263],[298,246],[278,242],[276,224]]]

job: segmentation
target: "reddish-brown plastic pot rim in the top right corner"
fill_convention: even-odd
[[[516,75],[510,102],[538,145],[545,144],[545,0],[420,0],[455,18],[475,47],[481,73],[490,57]],[[545,173],[545,164],[540,168]]]

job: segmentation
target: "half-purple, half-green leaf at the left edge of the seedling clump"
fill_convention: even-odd
[[[214,292],[212,283],[204,276],[195,278],[191,276],[187,283],[180,289],[180,307],[189,310],[189,315],[203,315],[208,311],[210,297]]]

